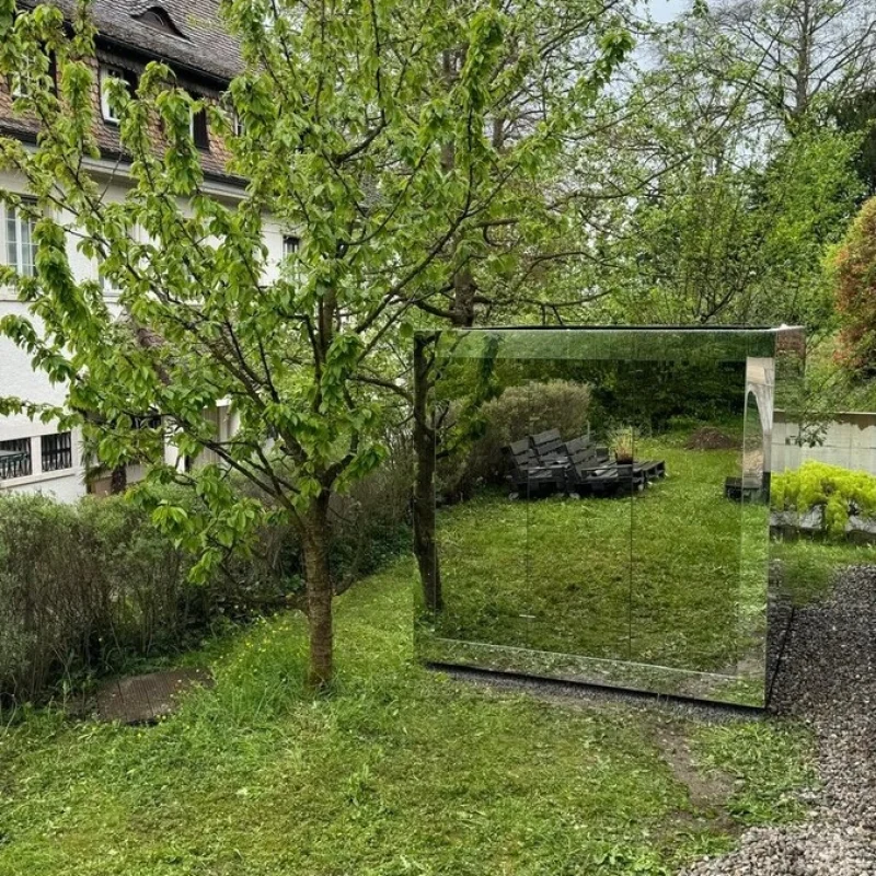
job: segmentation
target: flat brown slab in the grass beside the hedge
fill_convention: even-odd
[[[212,684],[207,669],[171,669],[114,679],[97,691],[94,712],[100,721],[149,724],[172,715],[178,708],[180,694]]]

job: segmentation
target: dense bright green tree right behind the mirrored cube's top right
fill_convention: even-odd
[[[856,140],[830,130],[774,147],[763,162],[694,159],[636,210],[643,315],[658,322],[815,327],[829,319],[821,263],[853,209]],[[644,287],[644,288],[643,288]],[[627,307],[634,307],[629,301]]]

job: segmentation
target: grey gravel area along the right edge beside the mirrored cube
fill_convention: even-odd
[[[876,876],[876,567],[798,612],[775,710],[809,724],[821,787],[802,825],[758,828],[687,876]]]

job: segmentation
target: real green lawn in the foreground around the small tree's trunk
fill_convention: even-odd
[[[548,703],[412,659],[401,562],[337,602],[335,689],[303,690],[285,614],[189,662],[217,687],[155,727],[30,712],[0,729],[0,874],[667,874],[800,814],[809,741],[770,722]],[[657,739],[728,796],[692,797]]]

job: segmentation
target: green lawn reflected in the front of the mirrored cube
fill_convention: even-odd
[[[761,647],[766,511],[724,497],[739,452],[649,442],[639,456],[668,477],[632,498],[491,493],[446,511],[437,632],[706,671]]]

